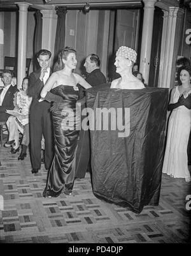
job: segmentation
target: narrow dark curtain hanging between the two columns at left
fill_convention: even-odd
[[[41,50],[42,45],[42,29],[43,29],[43,19],[42,14],[40,11],[36,11],[34,14],[35,20],[36,20],[36,27],[34,32],[34,70],[38,67],[38,61],[36,60],[36,54]]]

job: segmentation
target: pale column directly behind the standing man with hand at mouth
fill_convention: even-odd
[[[55,10],[41,10],[43,15],[43,34],[42,49],[50,50],[52,59],[50,65],[53,64],[53,54],[55,45],[55,34],[57,30],[57,14]]]

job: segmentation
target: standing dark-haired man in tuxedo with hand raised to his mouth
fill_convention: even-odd
[[[37,60],[40,68],[29,76],[28,95],[32,96],[29,116],[32,174],[41,169],[41,139],[45,138],[45,169],[48,170],[53,158],[53,133],[50,103],[41,101],[40,93],[51,75],[51,52],[39,50]]]

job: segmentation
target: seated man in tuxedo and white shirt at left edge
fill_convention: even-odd
[[[13,110],[13,98],[14,94],[18,91],[17,86],[12,86],[12,73],[10,70],[4,70],[2,74],[2,81],[4,84],[3,89],[0,91],[0,121],[6,122],[8,117],[10,116],[5,111]],[[6,144],[12,145],[14,141],[8,141]]]

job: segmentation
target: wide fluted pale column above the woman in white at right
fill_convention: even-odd
[[[170,88],[174,86],[183,13],[184,11],[182,9],[173,6],[169,7],[169,11],[164,11],[159,87]]]

